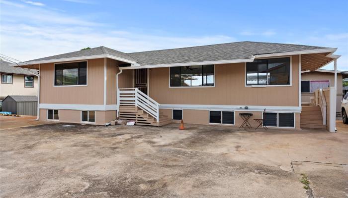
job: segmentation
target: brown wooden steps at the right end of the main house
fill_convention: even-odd
[[[326,129],[319,106],[302,106],[301,128]]]

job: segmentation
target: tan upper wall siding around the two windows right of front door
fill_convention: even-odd
[[[298,55],[292,56],[292,86],[246,87],[245,63],[215,65],[215,87],[169,88],[169,68],[150,69],[150,97],[161,104],[299,106]]]

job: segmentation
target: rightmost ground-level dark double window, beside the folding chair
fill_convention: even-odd
[[[293,113],[263,113],[263,125],[270,127],[294,127]]]

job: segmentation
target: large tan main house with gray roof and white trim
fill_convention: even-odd
[[[134,53],[98,47],[20,65],[40,70],[40,120],[105,125],[120,117],[155,126],[172,119],[240,126],[239,113],[250,112],[253,126],[254,118],[264,117],[269,127],[301,129],[301,71],[336,65],[335,51],[261,42]],[[322,124],[335,131],[332,105]],[[303,119],[310,119],[308,112]]]

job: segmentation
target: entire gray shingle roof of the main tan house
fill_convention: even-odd
[[[328,49],[316,46],[261,43],[261,42],[235,42],[208,46],[197,46],[189,48],[163,49],[153,51],[142,51],[124,53],[106,47],[97,47],[87,50],[74,51],[30,61],[51,60],[60,58],[72,58],[90,55],[109,54],[120,58],[136,61],[140,65],[173,64],[184,62],[219,61],[234,59],[249,59],[253,55],[281,53],[292,51],[304,51],[311,49]]]

